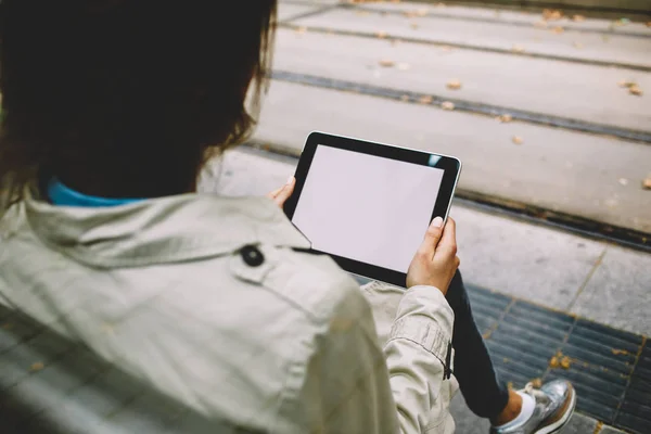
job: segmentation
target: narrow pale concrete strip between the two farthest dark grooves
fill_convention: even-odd
[[[442,44],[462,44],[476,49],[510,51],[514,44],[528,53],[582,59],[627,65],[651,66],[651,40],[621,35],[600,35],[573,29],[553,33],[549,28],[511,26],[501,23],[477,23],[448,17],[359,14],[354,10],[333,10],[293,22],[308,27],[355,30],[374,35],[385,31],[401,38],[419,38]],[[580,44],[577,49],[576,44]]]

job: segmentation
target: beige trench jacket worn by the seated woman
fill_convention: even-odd
[[[28,199],[0,235],[0,303],[203,414],[269,433],[454,432],[442,293],[360,291],[267,199]]]

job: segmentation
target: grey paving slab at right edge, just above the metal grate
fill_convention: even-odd
[[[651,336],[651,255],[610,246],[572,311]]]

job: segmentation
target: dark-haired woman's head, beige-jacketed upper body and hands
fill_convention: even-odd
[[[291,183],[195,192],[254,125],[275,12],[2,2],[0,303],[233,426],[450,433],[454,220],[424,234],[382,346],[355,281],[280,210]]]

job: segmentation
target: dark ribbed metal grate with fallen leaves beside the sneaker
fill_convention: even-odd
[[[643,336],[476,286],[468,291],[503,381],[519,388],[535,379],[570,380],[578,411],[651,433],[651,347]]]

